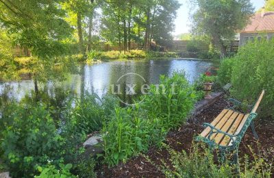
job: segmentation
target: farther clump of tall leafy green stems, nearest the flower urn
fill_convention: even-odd
[[[166,129],[177,128],[186,121],[196,100],[195,90],[184,73],[172,77],[160,76],[160,85],[151,85],[149,94],[143,97],[141,107],[152,118],[163,118]]]

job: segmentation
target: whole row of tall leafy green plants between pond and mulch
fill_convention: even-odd
[[[186,122],[196,94],[184,73],[174,73],[170,78],[161,76],[159,90],[151,85],[142,99],[134,107],[116,108],[103,129],[104,157],[109,166],[126,162],[151,145],[159,146],[170,129]]]

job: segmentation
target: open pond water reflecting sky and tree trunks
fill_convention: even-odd
[[[69,75],[66,81],[40,84],[39,89],[54,97],[56,88],[64,92],[73,92],[80,96],[84,91],[95,92],[101,97],[110,92],[112,86],[121,84],[121,94],[125,95],[125,86],[134,84],[140,88],[142,84],[158,84],[160,75],[171,76],[174,71],[185,71],[188,81],[193,82],[201,73],[212,69],[210,61],[160,59],[160,60],[127,60],[110,61],[93,65],[80,65],[79,75]],[[32,79],[0,83],[0,95],[20,100],[34,90]],[[137,94],[138,95],[138,94]],[[125,96],[124,96],[125,97]]]

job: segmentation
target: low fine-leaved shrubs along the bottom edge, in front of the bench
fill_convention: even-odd
[[[205,147],[192,146],[190,153],[178,152],[166,146],[171,155],[172,168],[163,160],[160,166],[166,177],[271,177],[271,164],[267,164],[260,157],[254,157],[251,162],[245,157],[240,164],[240,173],[236,173],[236,166],[223,162],[216,164],[214,155]]]

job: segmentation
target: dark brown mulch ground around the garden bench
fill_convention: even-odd
[[[177,131],[169,132],[165,143],[176,151],[182,151],[184,149],[188,152],[192,145],[193,138],[203,131],[203,123],[211,123],[225,107],[229,107],[229,103],[225,100],[225,97],[222,96],[210,107],[188,120],[188,123],[182,125]],[[255,120],[255,127],[259,140],[253,138],[251,129],[248,129],[240,143],[239,157],[245,154],[252,157],[249,149],[249,147],[251,147],[253,153],[263,155],[266,162],[271,161],[274,157],[274,120],[260,118],[259,115]],[[139,155],[129,160],[126,164],[119,164],[114,168],[103,166],[97,175],[99,177],[165,177],[146,157],[149,157],[149,160],[151,160],[154,165],[161,165],[161,160],[169,163],[169,153],[166,149],[152,147],[148,153],[145,154],[145,157],[144,155]]]

